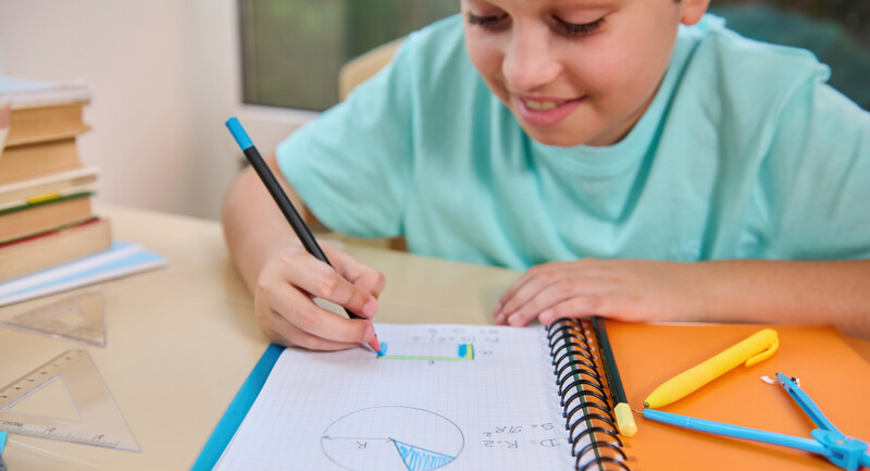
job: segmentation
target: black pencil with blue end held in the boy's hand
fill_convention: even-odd
[[[314,256],[318,260],[332,267],[332,263],[330,263],[330,260],[326,258],[326,253],[323,253],[320,245],[318,245],[318,240],[314,239],[313,235],[311,235],[311,231],[308,230],[308,226],[296,211],[296,208],[293,206],[293,202],[290,202],[287,194],[284,193],[284,189],[282,189],[278,181],[275,179],[275,175],[273,175],[272,171],[269,170],[269,165],[265,164],[262,156],[260,156],[260,152],[253,146],[250,137],[248,137],[248,133],[246,133],[245,128],[241,127],[241,123],[239,123],[238,120],[233,116],[226,120],[226,127],[229,129],[229,133],[233,134],[236,142],[238,142],[238,146],[245,153],[245,158],[251,163],[253,170],[257,172],[257,175],[260,176],[260,179],[272,195],[272,198],[277,203],[281,212],[284,213],[285,218],[287,218],[287,222],[290,223],[290,227],[293,227],[293,231],[296,233],[296,236],[299,237],[299,240],[302,243],[302,246],[304,246],[306,250],[308,250],[308,252]],[[345,309],[345,312],[347,312],[347,315],[350,319],[362,319],[360,315],[357,315],[347,309]],[[372,347],[372,350],[375,352],[381,351],[381,343],[377,342],[377,335],[369,340],[369,346]]]

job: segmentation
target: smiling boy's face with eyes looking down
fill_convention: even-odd
[[[529,135],[607,146],[643,115],[708,0],[462,0],[465,46]]]

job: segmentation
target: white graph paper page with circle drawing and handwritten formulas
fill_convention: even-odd
[[[381,358],[284,350],[215,469],[572,468],[544,327],[375,330]]]

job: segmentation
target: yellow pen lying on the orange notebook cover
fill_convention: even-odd
[[[767,360],[780,347],[776,331],[765,329],[713,358],[666,381],[644,400],[644,407],[657,409],[682,399],[741,363],[751,367]]]

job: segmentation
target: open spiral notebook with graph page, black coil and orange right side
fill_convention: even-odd
[[[608,323],[634,409],[663,380],[759,329]],[[251,389],[246,384],[194,470],[831,469],[809,454],[639,417],[635,436],[618,435],[585,320],[376,330],[385,351],[378,358],[363,348],[270,347],[249,377],[259,370],[264,380],[252,387],[259,391],[248,397],[252,405],[236,404]],[[870,391],[870,364],[835,330],[776,330],[781,347],[772,360],[728,373],[668,410],[808,437],[811,422],[759,380],[783,371],[801,377],[844,433],[870,438],[861,419],[870,417],[861,399]]]

